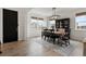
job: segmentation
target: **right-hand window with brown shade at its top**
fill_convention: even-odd
[[[86,12],[76,14],[75,26],[78,30],[86,30]]]

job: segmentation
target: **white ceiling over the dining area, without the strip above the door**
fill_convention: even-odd
[[[85,8],[57,8],[57,14],[66,15],[82,10],[86,11]],[[52,8],[33,8],[28,13],[32,13],[33,16],[47,17],[52,15]]]

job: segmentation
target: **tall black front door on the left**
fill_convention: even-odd
[[[17,12],[3,9],[3,42],[17,41]]]

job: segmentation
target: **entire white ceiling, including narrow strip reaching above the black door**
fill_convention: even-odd
[[[52,15],[52,8],[5,8],[15,11],[29,13],[32,16],[48,17]],[[70,15],[76,12],[86,11],[86,8],[57,8],[57,14],[61,16]],[[28,15],[29,15],[28,14]]]

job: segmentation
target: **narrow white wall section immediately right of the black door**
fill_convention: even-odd
[[[24,40],[25,38],[25,22],[26,22],[26,12],[19,12],[19,40]]]

